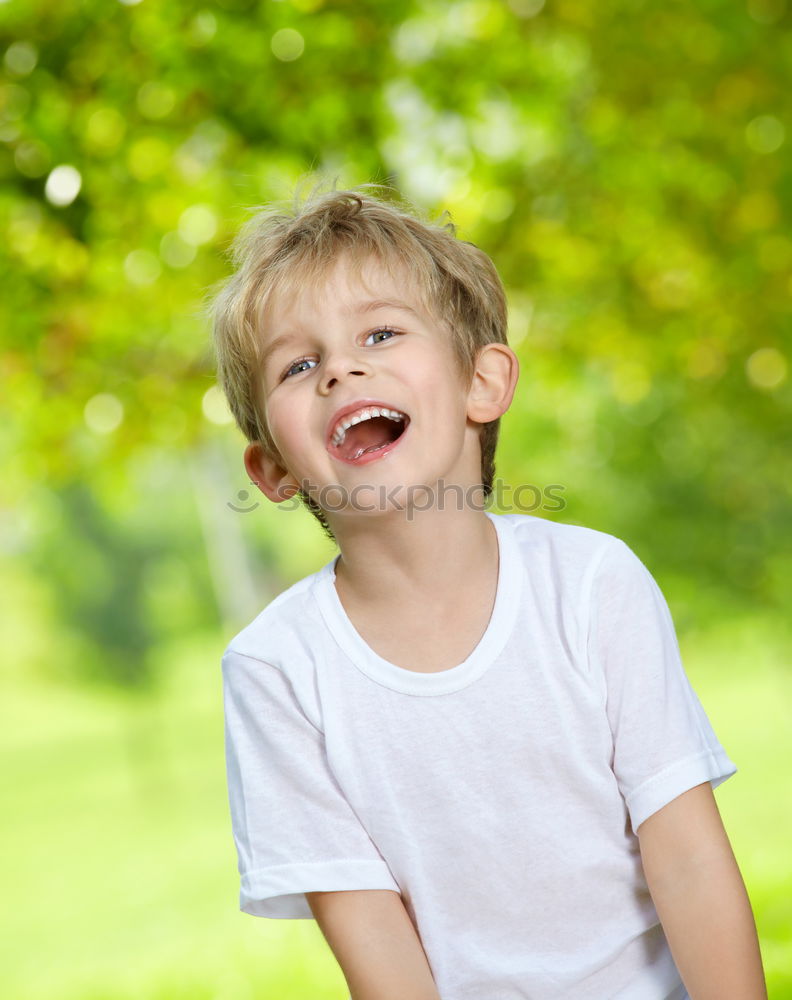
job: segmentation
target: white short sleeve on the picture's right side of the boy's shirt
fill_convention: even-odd
[[[612,766],[633,830],[688,789],[716,788],[737,771],[685,674],[660,588],[617,538],[593,580],[589,656],[604,683]]]

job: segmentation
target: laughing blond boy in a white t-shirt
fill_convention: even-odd
[[[759,1000],[736,768],[622,541],[484,509],[517,381],[489,258],[364,192],[264,213],[216,300],[251,480],[339,555],[223,658],[241,908],[353,1000]]]

